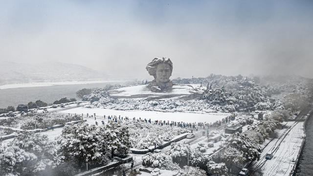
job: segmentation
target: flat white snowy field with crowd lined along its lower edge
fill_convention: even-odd
[[[159,112],[159,111],[144,111],[144,110],[111,110],[111,109],[100,109],[100,108],[73,108],[70,110],[60,111],[61,113],[76,113],[76,114],[84,114],[86,116],[87,113],[92,115],[96,113],[97,116],[112,116],[116,115],[117,117],[121,115],[121,117],[129,117],[132,119],[133,117],[142,119],[151,119],[154,120],[169,120],[176,122],[208,122],[213,123],[217,120],[222,120],[222,118],[230,115],[230,113],[186,113],[186,112]]]

